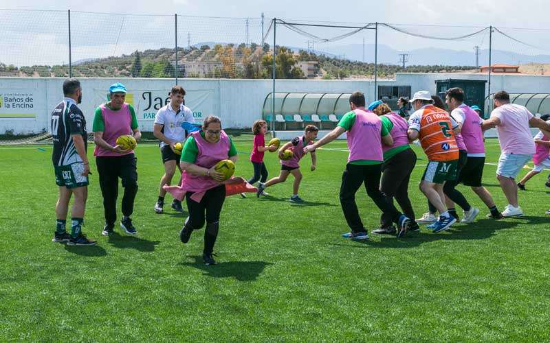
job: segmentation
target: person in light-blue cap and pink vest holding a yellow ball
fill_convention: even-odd
[[[124,134],[132,134],[138,141],[142,134],[137,128],[135,111],[126,104],[126,87],[115,83],[109,87],[111,101],[100,105],[94,117],[94,142],[96,149],[96,165],[98,166],[99,185],[103,196],[105,226],[102,235],[113,233],[116,221],[116,200],[118,198],[118,178],[122,179],[124,196],[122,196],[122,220],[120,227],[129,235],[135,235],[137,230],[130,216],[133,213],[133,203],[137,194],[137,158],[133,150],[124,150],[116,145],[116,139]]]

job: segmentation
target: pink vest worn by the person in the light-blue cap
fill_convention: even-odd
[[[111,108],[101,104],[99,106],[101,109],[101,116],[103,117],[104,131],[103,131],[103,140],[109,143],[112,146],[116,145],[116,139],[124,134],[132,134],[132,114],[130,113],[130,108],[128,104],[124,102],[120,110],[111,110]],[[133,154],[133,150],[127,154]],[[112,152],[106,150],[99,145],[96,145],[94,149],[94,156],[115,156],[120,157],[127,154],[118,154],[117,152]]]

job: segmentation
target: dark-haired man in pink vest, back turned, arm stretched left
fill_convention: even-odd
[[[397,224],[399,227],[397,237],[401,237],[406,233],[410,220],[399,213],[393,203],[389,202],[380,191],[380,176],[382,174],[382,163],[384,163],[382,143],[392,145],[393,139],[388,130],[382,126],[380,118],[371,111],[366,110],[363,93],[354,92],[351,94],[349,105],[351,111],[342,117],[338,126],[316,143],[304,147],[304,152],[314,152],[318,147],[337,139],[344,132],[347,132],[349,157],[346,170],[342,175],[340,204],[351,231],[344,233],[342,237],[369,239],[355,202],[355,193],[363,184],[369,198],[382,210],[382,213],[388,215],[391,221]]]

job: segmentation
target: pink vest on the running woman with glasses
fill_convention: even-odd
[[[216,143],[210,143],[203,139],[200,131],[195,131],[190,134],[195,142],[197,143],[197,149],[199,153],[197,154],[197,160],[195,165],[204,168],[212,168],[216,163],[221,160],[228,158],[228,152],[231,147],[229,137],[222,130],[219,136],[219,141]],[[217,182],[210,176],[198,176],[184,171],[182,174],[181,185],[184,187],[185,191],[200,192],[208,191],[208,189],[217,187],[221,185],[220,182]]]

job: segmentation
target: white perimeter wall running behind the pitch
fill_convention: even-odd
[[[435,80],[447,78],[486,80],[483,74],[456,73],[398,73],[396,80],[379,81],[379,85],[411,86],[412,93],[420,90],[435,92]],[[33,108],[23,111],[32,113],[34,118],[6,118],[6,110],[0,106],[0,134],[6,130],[19,133],[38,133],[49,127],[50,112],[63,98],[64,78],[0,78],[0,94],[32,93]],[[94,109],[108,93],[114,82],[122,82],[134,94],[134,107],[138,121],[144,131],[151,131],[156,109],[146,110],[147,101],[142,99],[145,92],[151,91],[154,97],[166,98],[174,80],[148,78],[80,78],[83,86],[83,104],[88,130],[91,130]],[[197,120],[206,115],[218,115],[224,128],[250,128],[252,122],[261,118],[262,106],[268,93],[272,91],[272,80],[205,80],[181,79],[188,95],[186,104],[197,111]],[[505,90],[509,93],[550,93],[550,75],[493,75],[492,92]],[[360,90],[365,93],[367,102],[374,98],[374,82],[370,80],[277,80],[276,92],[327,92],[349,93]],[[200,99],[199,99],[200,98]],[[193,104],[196,104],[193,108]],[[5,107],[5,104],[3,104]],[[12,110],[13,112],[14,110]],[[153,115],[153,116],[152,116]]]

